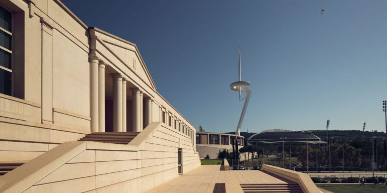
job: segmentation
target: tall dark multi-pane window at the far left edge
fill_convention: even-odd
[[[1,6],[0,93],[12,95],[12,13]]]

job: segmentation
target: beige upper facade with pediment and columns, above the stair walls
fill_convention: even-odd
[[[13,94],[0,93],[0,161],[31,160],[90,132],[142,131],[163,120],[195,143],[195,128],[157,92],[135,44],[88,28],[60,1],[0,6],[13,14],[15,36]]]

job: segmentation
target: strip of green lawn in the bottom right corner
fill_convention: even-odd
[[[366,184],[364,187],[360,184],[317,184],[318,187],[335,192],[335,193],[385,193],[387,187],[378,184],[374,187],[372,184]]]

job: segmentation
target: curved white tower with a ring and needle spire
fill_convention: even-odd
[[[239,72],[238,72],[238,81],[237,82],[233,82],[230,84],[230,88],[231,90],[234,90],[234,91],[238,91],[239,92],[239,101],[240,100],[240,95],[241,95],[241,91],[244,91],[246,92],[246,97],[244,98],[245,101],[244,101],[244,105],[243,105],[243,109],[242,109],[242,113],[240,114],[240,118],[239,118],[239,123],[238,123],[238,126],[236,128],[236,131],[235,131],[235,135],[240,135],[240,128],[242,127],[242,122],[243,122],[243,118],[244,118],[244,114],[246,113],[246,109],[247,109],[247,105],[248,105],[248,101],[250,100],[250,94],[251,94],[251,90],[249,90],[246,86],[249,86],[250,85],[250,81],[242,81],[241,80],[241,63],[240,63],[240,48],[239,48],[239,65],[238,65],[238,69],[239,69]],[[243,100],[243,99],[242,99]]]

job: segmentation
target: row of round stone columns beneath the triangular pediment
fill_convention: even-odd
[[[90,118],[91,132],[105,132],[105,66],[98,57],[90,56]],[[126,79],[119,73],[110,74],[113,80],[113,132],[136,131],[152,122],[152,104],[150,97],[143,99],[144,92],[140,88],[132,90],[132,110],[126,109]],[[143,102],[145,102],[143,107]],[[143,110],[145,117],[143,118]],[[132,111],[132,130],[127,129],[126,114]],[[143,120],[144,124],[143,125]]]

